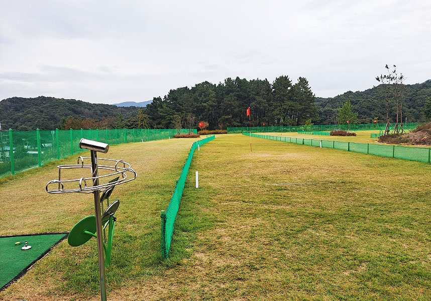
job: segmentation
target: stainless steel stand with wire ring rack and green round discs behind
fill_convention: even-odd
[[[97,252],[99,262],[99,277],[100,277],[100,296],[101,300],[106,300],[106,279],[105,279],[105,264],[109,265],[111,262],[111,248],[114,235],[114,227],[116,218],[114,213],[117,210],[120,201],[116,200],[111,205],[109,204],[109,197],[112,190],[116,185],[124,184],[136,179],[137,174],[131,168],[130,164],[122,160],[102,159],[97,158],[97,152],[106,154],[109,150],[109,145],[106,143],[88,140],[82,138],[79,141],[79,147],[90,150],[90,157],[78,157],[76,165],[59,165],[58,167],[58,180],[49,181],[46,184],[46,191],[48,193],[93,193],[94,196],[94,212],[95,215],[87,216],[80,220],[72,228],[69,234],[69,244],[72,246],[79,246],[95,237],[97,239]],[[91,164],[84,164],[85,160],[91,160]],[[101,165],[98,165],[101,161]],[[121,167],[122,166],[122,167]],[[61,171],[65,169],[90,169],[91,177],[80,178],[75,180],[61,180]],[[98,175],[98,169],[112,171],[108,175]],[[99,180],[107,180],[113,178],[106,184],[99,184]],[[92,182],[92,186],[88,183]],[[54,186],[54,187],[52,187]],[[51,189],[52,187],[52,189]],[[66,187],[66,189],[65,189]],[[68,187],[71,187],[68,189]],[[100,192],[102,197],[100,198]],[[102,214],[103,201],[107,200],[107,208]],[[101,208],[100,208],[101,204]],[[103,238],[106,238],[104,228],[108,226],[107,244],[103,243]],[[103,252],[104,251],[104,252]],[[106,253],[106,262],[104,260],[104,253]]]

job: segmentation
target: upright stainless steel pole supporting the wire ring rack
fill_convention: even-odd
[[[93,186],[99,185],[97,172],[97,154],[94,150],[91,153],[91,176],[93,177]],[[99,258],[99,277],[100,277],[100,296],[102,301],[106,301],[106,278],[105,278],[105,260],[103,254],[102,222],[100,210],[100,190],[94,190],[94,213],[96,216],[96,235],[97,235],[97,253]]]

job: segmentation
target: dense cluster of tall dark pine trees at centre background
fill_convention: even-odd
[[[280,76],[273,83],[265,80],[227,78],[218,85],[209,82],[188,88],[170,90],[163,98],[155,97],[148,104],[150,127],[175,127],[181,120],[208,123],[208,129],[247,126],[246,109],[251,108],[251,125],[300,125],[306,120],[318,121],[315,96],[308,81],[299,78],[292,83]]]

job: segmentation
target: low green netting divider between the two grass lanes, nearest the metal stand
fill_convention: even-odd
[[[185,180],[187,178],[187,173],[190,168],[191,159],[193,158],[193,153],[198,145],[205,144],[213,140],[215,136],[210,136],[205,139],[196,141],[191,146],[190,152],[188,153],[187,160],[185,161],[184,167],[181,171],[181,175],[177,180],[174,193],[172,194],[171,201],[169,202],[168,208],[166,211],[162,211],[160,214],[161,217],[161,239],[160,239],[160,249],[162,252],[162,257],[167,258],[168,253],[171,247],[172,235],[174,233],[174,223],[175,218],[178,213],[179,204],[182,196],[182,192],[184,190]]]

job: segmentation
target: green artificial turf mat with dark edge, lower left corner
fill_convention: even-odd
[[[0,290],[25,274],[27,269],[48,253],[67,233],[0,237]],[[15,245],[21,242],[20,245]],[[30,250],[21,250],[27,242]]]

